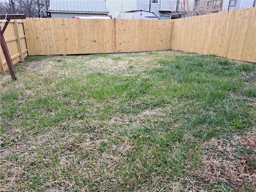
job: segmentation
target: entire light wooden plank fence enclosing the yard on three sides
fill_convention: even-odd
[[[4,37],[13,63],[18,62],[21,55],[25,57],[28,54],[92,54],[170,49],[256,62],[255,21],[255,7],[176,20],[26,18],[17,24],[18,36],[15,25],[9,24]],[[2,50],[0,54],[2,73],[7,65]]]

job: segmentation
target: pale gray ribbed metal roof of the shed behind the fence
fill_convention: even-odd
[[[108,12],[105,0],[50,0],[48,11]]]

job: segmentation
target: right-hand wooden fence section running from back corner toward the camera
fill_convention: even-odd
[[[256,62],[256,7],[173,20],[170,48]]]

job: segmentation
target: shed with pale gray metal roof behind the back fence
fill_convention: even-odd
[[[108,16],[105,0],[50,0],[49,17]]]

